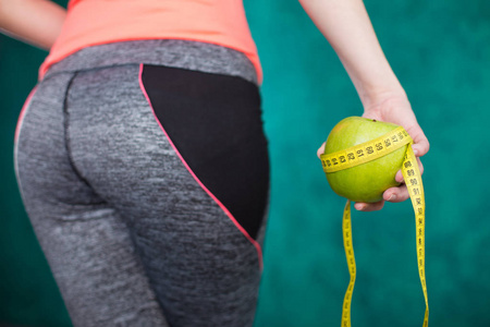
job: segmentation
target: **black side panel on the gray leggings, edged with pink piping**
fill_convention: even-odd
[[[184,160],[256,238],[269,190],[258,87],[241,77],[144,65],[143,84]]]

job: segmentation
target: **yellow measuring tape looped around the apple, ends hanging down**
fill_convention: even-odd
[[[371,140],[369,142],[350,147],[347,149],[336,152],[333,154],[323,154],[320,156],[321,165],[326,173],[335,172],[362,165],[408,144],[405,159],[402,165],[402,173],[405,179],[405,184],[411,195],[412,205],[415,211],[416,225],[416,242],[417,242],[417,265],[420,283],[426,300],[426,314],[424,317],[424,327],[429,326],[429,301],[427,296],[426,272],[425,272],[425,211],[426,201],[424,197],[424,185],[421,181],[420,170],[418,168],[417,159],[412,149],[413,140],[408,133],[402,128],[396,128],[393,131]],[[351,223],[351,201],[344,208],[344,216],[342,221],[342,231],[344,235],[344,250],[347,259],[347,267],[351,275],[347,290],[344,296],[344,304],[342,306],[342,327],[351,327],[351,302],[354,292],[354,283],[356,280],[356,261],[354,257],[354,246],[352,242],[352,223]]]

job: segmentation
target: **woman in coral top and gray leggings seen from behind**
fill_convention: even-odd
[[[363,2],[302,4],[364,116],[403,125],[425,155]],[[66,14],[46,0],[9,0],[0,27],[50,49],[15,159],[73,324],[252,326],[269,162],[260,63],[241,1],[72,0]],[[407,197],[404,186],[383,196]]]

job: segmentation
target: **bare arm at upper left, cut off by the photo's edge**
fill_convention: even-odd
[[[48,0],[0,0],[0,32],[49,50],[66,11]]]

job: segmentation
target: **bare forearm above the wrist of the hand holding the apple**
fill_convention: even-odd
[[[362,0],[299,0],[338,53],[366,106],[383,94],[404,95]]]

